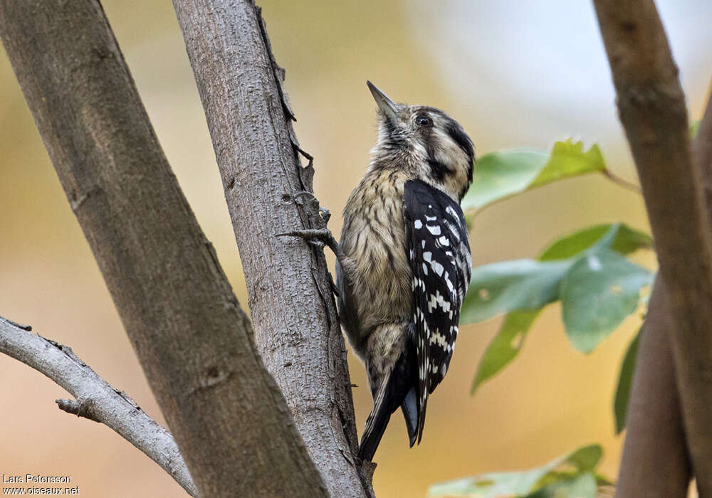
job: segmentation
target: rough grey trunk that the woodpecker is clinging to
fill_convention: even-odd
[[[260,10],[248,0],[174,0],[245,270],[263,360],[330,494],[360,480],[345,344],[323,254],[276,233],[317,228],[313,169],[301,152]],[[308,158],[309,159],[309,158]]]

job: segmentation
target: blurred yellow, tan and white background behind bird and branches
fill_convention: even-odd
[[[315,191],[334,213],[335,233],[375,143],[367,79],[394,100],[449,112],[479,155],[518,146],[548,149],[556,139],[575,137],[587,147],[599,142],[609,168],[637,181],[590,2],[259,4],[278,63],[287,70],[296,131],[315,157]],[[690,117],[697,120],[712,73],[712,4],[657,4]],[[246,307],[239,255],[172,5],[103,5],[167,157]],[[4,52],[0,118],[0,315],[72,346],[163,421]],[[647,231],[642,198],[602,176],[545,186],[476,218],[473,264],[534,257],[559,235],[614,221]],[[655,265],[652,256],[641,261]],[[639,322],[639,316],[629,318],[583,355],[570,349],[558,305],[547,307],[519,358],[476,396],[469,386],[499,320],[462,327],[451,370],[429,403],[422,444],[409,450],[402,417],[392,418],[377,453],[377,496],[422,497],[434,482],[538,466],[587,443],[602,443],[602,470],[615,477],[622,438],[614,436],[612,395]],[[363,366],[352,355],[350,368],[362,428],[372,403]],[[0,356],[0,396],[0,473],[70,475],[87,497],[185,496],[111,430],[60,412],[54,400],[67,394],[6,356]]]

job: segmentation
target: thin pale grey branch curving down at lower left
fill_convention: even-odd
[[[0,317],[0,352],[31,366],[65,388],[74,400],[57,400],[61,410],[103,423],[144,452],[191,496],[198,489],[172,435],[129,396],[112,388],[68,346],[28,332]]]

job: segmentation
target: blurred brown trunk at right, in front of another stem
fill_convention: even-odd
[[[700,495],[709,497],[712,231],[701,168],[691,153],[685,97],[653,1],[594,4],[665,282],[687,447]],[[636,496],[642,495],[637,489]]]

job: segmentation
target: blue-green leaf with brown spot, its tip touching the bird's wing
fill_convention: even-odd
[[[515,309],[537,309],[557,300],[559,282],[573,260],[513,260],[473,268],[460,322],[482,322]]]

